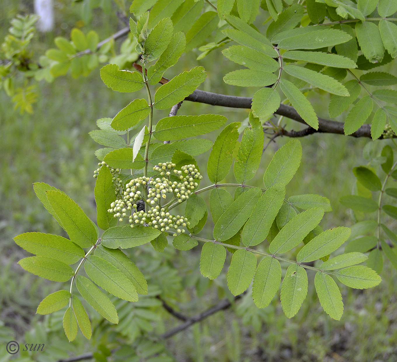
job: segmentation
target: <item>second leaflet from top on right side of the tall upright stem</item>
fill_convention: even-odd
[[[186,46],[185,34],[179,32],[172,36],[166,50],[154,65],[151,65],[147,71],[149,84],[160,82],[164,72],[176,64],[179,57],[183,54]]]

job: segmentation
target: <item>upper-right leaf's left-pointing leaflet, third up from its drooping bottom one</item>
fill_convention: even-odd
[[[280,68],[279,63],[272,57],[247,46],[233,45],[222,50],[222,54],[237,64],[257,71],[273,73]]]

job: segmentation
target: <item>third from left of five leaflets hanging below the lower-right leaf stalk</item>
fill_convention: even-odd
[[[281,266],[277,259],[264,257],[256,268],[252,282],[252,298],[258,308],[267,307],[281,282]]]

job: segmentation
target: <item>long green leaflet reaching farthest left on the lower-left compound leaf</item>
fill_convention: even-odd
[[[85,255],[79,245],[58,235],[25,232],[15,236],[14,241],[29,253],[60,260],[65,264],[74,264]]]

